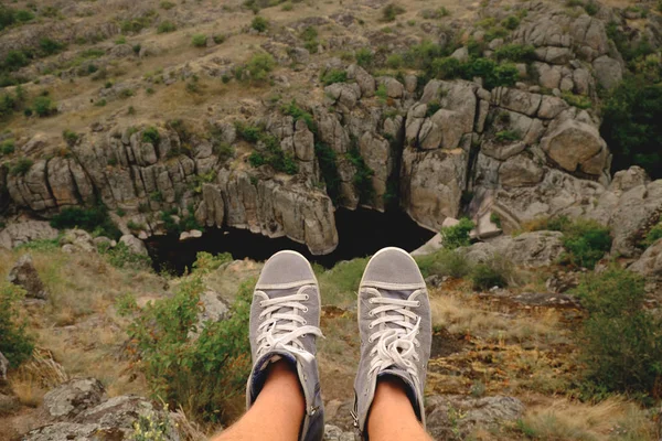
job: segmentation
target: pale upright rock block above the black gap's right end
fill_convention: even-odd
[[[438,230],[447,217],[458,217],[467,174],[463,151],[403,154],[403,206],[414,220]]]

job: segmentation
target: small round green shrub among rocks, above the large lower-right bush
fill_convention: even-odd
[[[591,219],[576,219],[563,229],[564,260],[588,269],[611,249],[609,228]]]

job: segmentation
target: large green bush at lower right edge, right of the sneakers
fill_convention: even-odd
[[[662,321],[643,309],[644,280],[612,267],[574,292],[588,311],[578,345],[597,390],[662,392]]]

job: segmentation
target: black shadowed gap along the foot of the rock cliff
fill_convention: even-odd
[[[370,256],[384,247],[413,251],[435,235],[399,211],[380,213],[366,208],[339,208],[335,212],[335,227],[338,248],[324,256],[313,256],[306,245],[287,237],[270,239],[239,228],[209,228],[201,238],[186,241],[179,241],[175,235],[152,236],[146,244],[156,270],[181,275],[185,268],[191,268],[200,251],[214,255],[229,252],[235,259],[259,261],[267,260],[279,250],[293,249],[311,262],[331,268],[341,260]]]

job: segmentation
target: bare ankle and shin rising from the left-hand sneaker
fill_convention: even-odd
[[[250,410],[212,441],[296,441],[305,402],[293,368],[277,362],[269,367],[267,381]]]

